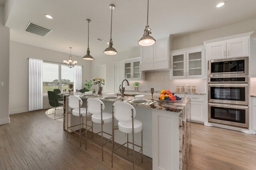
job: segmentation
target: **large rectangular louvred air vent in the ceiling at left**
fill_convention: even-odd
[[[49,28],[37,25],[35,23],[29,22],[25,28],[25,31],[45,37],[52,30]]]

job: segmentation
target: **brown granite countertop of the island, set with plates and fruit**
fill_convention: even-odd
[[[64,94],[64,96],[69,96],[70,94]],[[73,94],[76,95],[76,94]],[[81,99],[88,99],[88,97],[82,96],[81,94],[77,94]],[[132,96],[124,96],[124,98],[120,98],[121,96],[118,96],[118,100],[109,100],[104,99],[105,94],[103,95],[96,95],[90,98],[99,98],[103,102],[123,102],[128,99],[134,99],[135,97]],[[151,100],[151,96],[145,96],[145,99]],[[132,106],[138,106],[138,107],[144,107],[144,108],[151,108],[151,109],[158,109],[163,111],[172,111],[172,112],[178,112],[182,113],[182,109],[186,106],[186,104],[189,102],[190,98],[182,98],[182,100],[177,101],[159,101],[158,96],[154,96],[154,101],[157,101],[153,104],[147,105],[147,104],[141,104],[141,103],[135,103],[135,102],[128,102]]]

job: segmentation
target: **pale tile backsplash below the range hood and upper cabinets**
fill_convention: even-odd
[[[139,89],[150,90],[150,88],[155,88],[155,90],[168,89],[171,91],[176,91],[176,86],[196,86],[196,92],[206,92],[206,79],[183,79],[183,80],[170,80],[170,71],[154,71],[146,72],[145,80],[132,80],[129,81],[131,86],[126,87],[127,90],[134,90],[132,84],[134,82],[139,82]],[[181,88],[181,87],[180,87]]]

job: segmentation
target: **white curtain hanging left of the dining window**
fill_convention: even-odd
[[[43,61],[37,59],[28,60],[28,110],[43,108]]]

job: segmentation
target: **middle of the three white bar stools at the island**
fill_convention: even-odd
[[[112,121],[112,114],[103,112],[105,106],[104,103],[96,98],[88,98],[87,100],[87,111],[92,114],[92,126],[93,123],[100,123],[101,124],[101,131],[98,133],[101,133],[101,152],[102,152],[102,161],[103,161],[103,147],[112,139],[112,135],[109,133],[106,133],[103,131],[103,124],[104,123],[110,123]],[[96,134],[98,134],[96,133]],[[108,139],[108,141],[103,144],[103,133],[106,133],[107,135],[110,135],[111,138]],[[94,135],[96,135],[94,134]],[[86,143],[85,143],[86,145]]]

